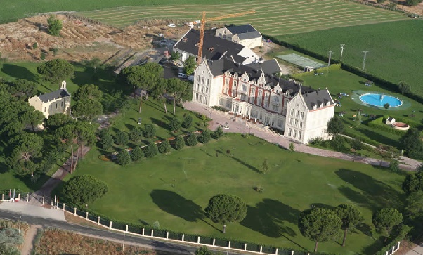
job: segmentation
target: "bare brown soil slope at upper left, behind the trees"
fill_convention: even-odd
[[[156,20],[150,25],[131,25],[118,29],[67,15],[56,15],[62,20],[60,37],[48,34],[48,15],[39,15],[0,25],[1,57],[8,60],[37,61],[41,53],[46,60],[64,58],[81,61],[92,58],[105,60],[117,51],[145,51],[153,48],[153,41],[160,40],[158,34],[178,39],[186,32],[186,27],[167,27],[166,20]],[[37,43],[37,47],[34,44]],[[51,49],[58,48],[53,54]]]

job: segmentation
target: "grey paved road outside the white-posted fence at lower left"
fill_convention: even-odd
[[[18,221],[20,214],[0,209],[0,218]],[[124,239],[123,233],[116,233],[109,230],[102,230],[97,228],[90,228],[84,225],[77,225],[63,221],[55,221],[49,218],[39,218],[34,216],[21,216],[21,221],[30,224],[42,225],[44,228],[58,228],[61,230],[68,230],[82,235],[90,235],[101,239],[112,240],[115,242],[122,242]],[[137,237],[133,235],[125,235],[125,244],[137,244],[144,247],[150,247],[159,251],[171,251],[172,254],[194,254],[198,247],[190,247],[184,244],[175,244],[171,242],[162,242],[152,240],[145,237]],[[240,255],[240,253],[228,252],[231,255]]]

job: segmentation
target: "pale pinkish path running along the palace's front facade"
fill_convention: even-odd
[[[215,130],[218,126],[224,126],[226,122],[228,122],[229,129],[223,129],[225,132],[230,133],[254,133],[254,136],[267,140],[269,143],[277,143],[278,145],[282,146],[283,148],[288,149],[289,143],[292,140],[285,138],[284,136],[280,136],[278,133],[270,131],[268,129],[264,129],[262,124],[252,124],[251,122],[245,122],[245,120],[238,119],[237,121],[233,121],[231,115],[225,115],[224,112],[213,110],[205,105],[200,105],[194,102],[186,102],[183,104],[186,110],[190,110],[193,112],[199,112],[202,115],[206,115],[213,119],[213,121],[209,125],[209,129]],[[372,164],[372,165],[380,165],[380,166],[389,166],[389,162],[382,161],[380,159],[372,159],[370,157],[360,157],[356,155],[349,155],[346,153],[335,152],[332,150],[323,150],[319,148],[313,148],[310,146],[306,146],[303,144],[295,145],[295,151],[308,153],[312,155],[318,155],[322,157],[333,157],[337,159],[344,159],[353,162],[361,162],[364,164]],[[408,171],[415,171],[417,166],[422,164],[415,159],[410,159],[408,157],[401,156],[400,159],[400,167],[401,169],[405,169]]]

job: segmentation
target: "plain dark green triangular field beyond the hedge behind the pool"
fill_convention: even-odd
[[[321,55],[333,51],[332,59],[337,60],[341,54],[339,45],[346,44],[342,60],[359,68],[363,66],[363,51],[369,51],[365,59],[367,72],[394,84],[406,81],[414,93],[423,96],[420,70],[423,48],[417,46],[421,41],[421,34],[417,31],[422,30],[423,20],[405,20],[287,34],[278,38]]]

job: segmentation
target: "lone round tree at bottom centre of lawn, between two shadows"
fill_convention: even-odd
[[[242,221],[247,216],[247,204],[235,195],[219,194],[210,198],[204,212],[214,223],[226,225]],[[223,227],[224,232],[225,227]]]

